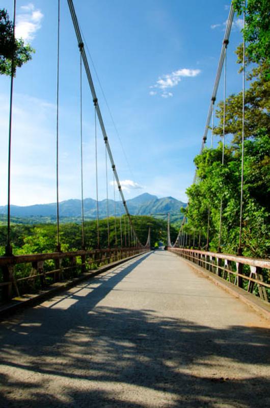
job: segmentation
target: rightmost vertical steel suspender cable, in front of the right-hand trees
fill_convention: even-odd
[[[246,7],[246,1],[245,1]],[[244,10],[243,15],[243,22],[244,22],[244,29],[245,29],[245,20],[246,20],[246,13]],[[246,85],[246,43],[245,38],[243,36],[243,71],[242,71],[242,151],[241,151],[241,196],[240,196],[240,223],[239,223],[239,248],[238,254],[241,255],[242,253],[242,212],[243,212],[243,190],[244,190],[244,141],[245,141],[245,85]]]

